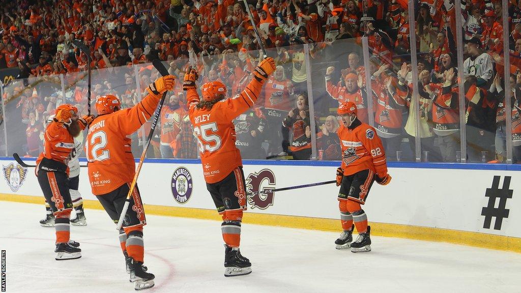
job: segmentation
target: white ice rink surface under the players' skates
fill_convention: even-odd
[[[68,261],[54,260],[54,228],[38,223],[44,214],[43,205],[0,201],[6,292],[134,291],[104,211],[86,210],[88,226],[71,226],[82,258]],[[220,222],[147,222],[145,265],[156,285],[143,292],[521,292],[521,254],[376,236],[373,251],[355,254],[334,249],[339,233],[251,224],[241,252],[253,273],[226,278]]]

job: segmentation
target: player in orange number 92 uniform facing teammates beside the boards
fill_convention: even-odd
[[[387,174],[386,154],[375,129],[358,120],[353,102],[342,103],[338,115],[342,122],[338,129],[342,165],[337,169],[337,186],[340,186],[338,200],[344,231],[334,243],[337,249],[371,251],[371,227],[367,226],[367,215],[361,204],[365,203],[374,181],[381,185],[391,181]],[[355,226],[358,238],[352,242]]]

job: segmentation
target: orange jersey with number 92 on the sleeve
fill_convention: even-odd
[[[373,127],[356,119],[348,128],[341,124],[337,133],[345,176],[366,169],[373,170],[380,178],[386,176],[386,153]]]

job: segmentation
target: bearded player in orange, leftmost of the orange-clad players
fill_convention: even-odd
[[[43,152],[36,160],[38,182],[56,218],[56,260],[81,258],[80,243],[70,240],[70,213],[73,205],[67,164],[75,150],[74,138],[79,136],[92,118],[79,118],[78,108],[69,104],[57,107],[53,121],[45,129]]]

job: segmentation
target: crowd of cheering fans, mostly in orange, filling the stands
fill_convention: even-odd
[[[415,44],[411,44],[405,0],[249,3],[262,42],[278,66],[258,107],[235,121],[237,145],[245,158],[292,155],[308,160],[314,132],[319,159],[339,160],[338,120],[330,109],[338,106],[336,101],[349,100],[358,105],[361,120],[374,120],[391,161],[412,159],[416,138],[421,138],[425,161],[461,160],[460,113],[464,113],[468,160],[504,162],[505,141],[510,140],[505,129],[503,80],[503,33],[507,33],[513,151],[514,160],[521,160],[518,1],[508,3],[509,28],[502,27],[501,1],[462,1],[465,44],[455,41],[452,0],[415,1]],[[170,72],[180,78],[188,66],[196,66],[201,83],[221,80],[228,87],[228,96],[234,96],[243,90],[260,58],[253,27],[242,1],[237,0],[20,0],[7,2],[0,10],[0,68],[18,67],[18,78],[26,78],[23,86],[13,87],[4,99],[19,99],[17,108],[28,125],[29,155],[38,152],[35,135],[40,135],[57,101],[85,109],[84,71],[89,58],[91,68],[98,69],[92,96],[115,93],[123,106],[139,101],[140,89],[153,80],[154,70],[141,65],[152,59],[168,62]],[[368,37],[367,68],[362,62],[362,36]],[[74,40],[88,46],[91,56],[72,46]],[[337,46],[342,54],[328,58],[328,47],[343,42],[339,40],[351,40],[351,47],[342,51]],[[303,44],[309,44],[311,62],[306,61]],[[458,49],[464,53],[465,97],[458,95]],[[413,94],[411,54],[418,60],[417,94]],[[65,82],[56,77],[60,74],[65,75]],[[31,77],[42,76],[52,77],[28,87]],[[308,89],[310,78],[312,89]],[[66,84],[65,89],[61,83]],[[309,90],[314,94],[315,117],[309,114]],[[460,98],[465,99],[463,110]],[[183,99],[180,88],[169,96],[150,156],[197,156]],[[419,113],[410,110],[418,107]],[[147,135],[146,129],[136,135],[137,144]]]

